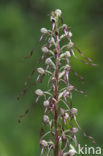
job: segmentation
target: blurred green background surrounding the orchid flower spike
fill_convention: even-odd
[[[74,93],[73,104],[79,109],[81,127],[96,140],[93,146],[103,148],[103,0],[0,0],[0,156],[39,156],[43,106],[42,100],[34,102],[34,91],[45,88],[46,80],[32,86],[20,101],[16,97],[41,56],[40,28],[50,28],[48,14],[58,8],[64,23],[72,27],[73,42],[99,64],[89,67],[73,61],[74,69],[86,80],[83,86],[78,78],[72,80],[88,95]],[[24,60],[32,47],[33,57]],[[36,75],[31,81],[35,79]],[[33,102],[30,113],[18,124],[19,115]],[[91,145],[79,135],[81,145]]]

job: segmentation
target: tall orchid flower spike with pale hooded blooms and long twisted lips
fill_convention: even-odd
[[[77,133],[80,130],[83,136],[94,139],[82,130],[77,121],[78,109],[72,103],[72,92],[76,91],[85,95],[84,91],[78,90],[71,84],[70,74],[74,73],[82,82],[84,78],[79,75],[71,66],[71,57],[84,64],[95,66],[92,60],[86,56],[72,42],[71,28],[62,23],[62,12],[57,9],[50,16],[52,28],[41,28],[40,42],[46,40],[42,46],[42,56],[45,67],[38,67],[37,82],[41,82],[44,76],[49,76],[49,88],[46,91],[37,89],[36,102],[43,97],[44,115],[41,128],[41,156],[74,156],[75,147],[78,148]],[[61,25],[60,25],[61,21]],[[66,44],[64,44],[66,41]],[[78,52],[86,61],[76,56]],[[87,62],[88,61],[88,62]],[[32,75],[34,74],[34,70]],[[61,83],[62,87],[61,88]],[[62,105],[61,105],[62,103]],[[24,115],[23,115],[24,116]],[[75,122],[75,124],[74,124]],[[45,127],[48,127],[45,129]],[[47,131],[46,131],[47,130]],[[46,131],[46,132],[45,132]],[[75,146],[75,147],[74,147]],[[71,149],[72,148],[72,149]]]

